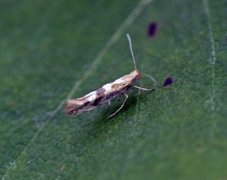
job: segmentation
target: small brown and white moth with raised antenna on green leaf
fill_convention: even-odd
[[[153,90],[152,89],[147,89],[139,86],[135,86],[134,83],[140,79],[140,73],[137,70],[136,67],[136,61],[134,57],[134,53],[132,50],[132,42],[129,34],[127,34],[128,42],[129,42],[129,48],[131,51],[131,56],[133,60],[133,64],[135,67],[135,70],[133,70],[131,73],[124,75],[117,80],[105,84],[101,88],[97,89],[96,91],[92,91],[88,93],[85,96],[82,96],[77,99],[69,99],[67,100],[65,104],[65,113],[68,115],[78,115],[82,112],[90,111],[92,109],[97,108],[100,105],[108,103],[110,105],[110,101],[113,100],[116,97],[119,97],[120,95],[124,95],[125,99],[122,103],[122,105],[118,108],[118,110],[113,113],[112,115],[109,116],[112,117],[115,114],[117,114],[124,106],[128,95],[126,92],[128,91],[129,88],[134,87],[140,90]]]

